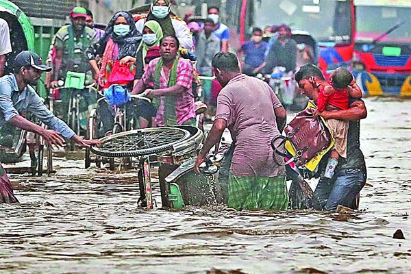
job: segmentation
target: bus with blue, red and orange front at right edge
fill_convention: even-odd
[[[354,0],[353,74],[368,95],[411,96],[411,1]]]

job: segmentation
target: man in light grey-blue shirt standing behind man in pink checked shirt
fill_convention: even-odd
[[[212,76],[211,60],[220,51],[220,39],[213,34],[215,28],[212,18],[204,21],[203,32],[199,34],[197,40],[197,71],[200,76]],[[212,80],[203,80],[203,100],[210,104]]]

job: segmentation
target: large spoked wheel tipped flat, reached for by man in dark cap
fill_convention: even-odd
[[[92,153],[104,157],[150,155],[173,149],[173,145],[190,138],[190,132],[177,127],[151,127],[121,132],[100,139]]]

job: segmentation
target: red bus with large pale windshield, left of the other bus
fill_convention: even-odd
[[[246,0],[243,0],[246,2]],[[319,47],[318,64],[326,77],[338,66],[352,64],[354,50],[353,0],[254,1],[253,25],[286,24],[308,32]],[[244,5],[244,3],[243,3]]]

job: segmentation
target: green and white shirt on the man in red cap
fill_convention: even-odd
[[[73,25],[61,27],[55,35],[54,48],[62,50],[62,64],[58,72],[58,79],[66,79],[67,71],[86,73],[86,82],[92,81],[90,63],[84,56],[87,47],[95,44],[96,32],[90,27],[84,27],[81,34],[77,34]]]

